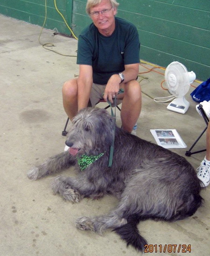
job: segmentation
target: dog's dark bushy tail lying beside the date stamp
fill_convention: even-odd
[[[143,252],[147,241],[139,233],[137,225],[140,220],[143,219],[138,214],[130,215],[127,218],[127,224],[117,227],[113,231],[126,241],[127,246],[132,245],[135,249]]]

